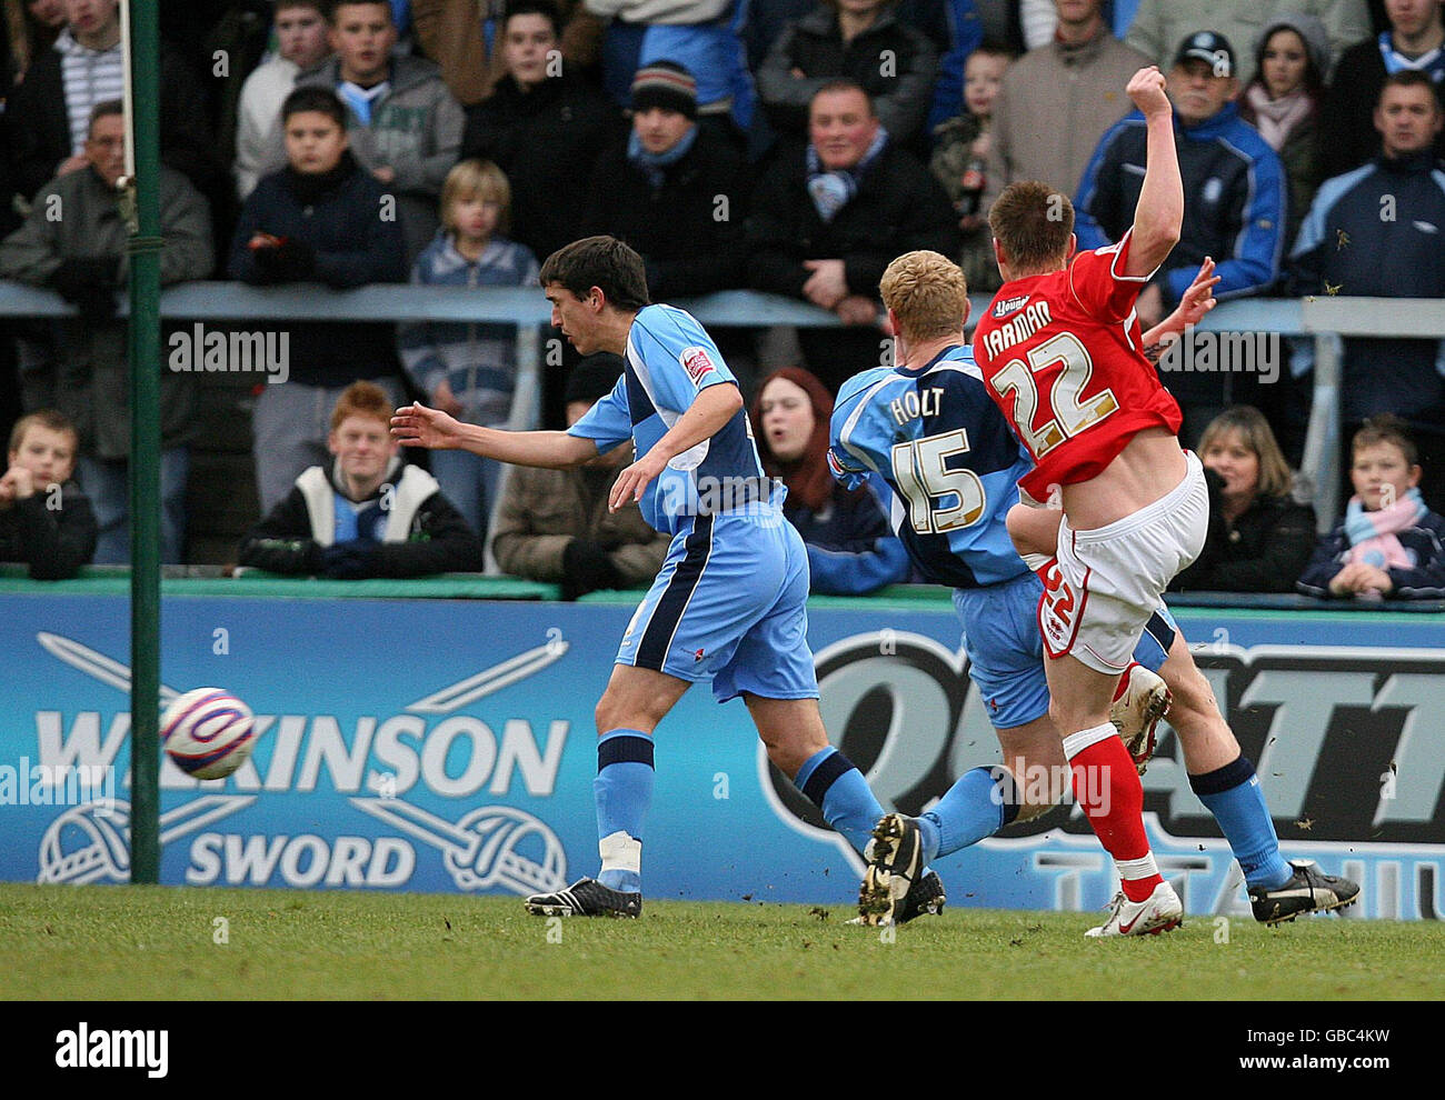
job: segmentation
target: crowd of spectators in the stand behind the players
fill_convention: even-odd
[[[991,293],[988,208],[1030,178],[1074,193],[1079,248],[1117,241],[1143,176],[1143,126],[1123,92],[1140,65],[1169,78],[1186,189],[1182,240],[1139,299],[1144,328],[1207,257],[1220,299],[1445,297],[1445,0],[162,7],[163,281],[220,277],[305,294],[308,283],[410,279],[486,293],[535,284],[539,261],[561,245],[611,234],[644,257],[655,300],[754,289],[834,312],[841,326],[718,332],[769,472],[789,484],[790,518],[811,533],[818,590],[864,592],[907,572],[879,502],[837,494],[814,455],[841,381],[886,362],[883,267],[932,248],[959,261],[975,293]],[[88,560],[129,554],[129,364],[116,318],[129,271],[116,202],[121,72],[117,0],[0,3],[0,279],[52,287],[77,306],[55,323],[0,328],[0,427],[26,413],[46,417],[22,422],[22,436],[45,442],[35,456],[12,440],[0,553],[17,553],[17,531],[33,534],[33,482],[52,478],[64,485],[55,497],[66,501],[66,525],[81,531],[66,536],[59,573],[74,572],[74,547],[88,537]],[[253,413],[266,517],[241,554],[253,564],[259,541],[280,537],[266,527],[279,511],[303,518],[302,479],[353,512],[380,492],[348,481],[338,450],[335,417],[354,404],[357,383],[386,401],[412,396],[474,423],[509,420],[516,362],[504,326],[256,318],[253,328],[289,341],[288,381],[259,387]],[[1217,530],[1182,586],[1293,590],[1314,549],[1314,517],[1290,495],[1311,351],[1295,345],[1273,377],[1166,375],[1185,410],[1185,443],[1217,472]],[[1432,517],[1445,510],[1445,342],[1351,338],[1342,365],[1341,466],[1354,518],[1328,562],[1316,556],[1306,588],[1438,592],[1429,577],[1389,588],[1376,575],[1363,588],[1319,580],[1341,554],[1347,580],[1364,575],[1354,569],[1364,559],[1350,556],[1353,534],[1394,538],[1390,567],[1436,560]],[[616,367],[566,349],[548,371],[546,417],[561,422],[564,407],[569,416],[595,400],[600,372]],[[197,393],[185,375],[156,370],[162,557],[181,562]],[[53,453],[42,462],[46,448]],[[1371,507],[1357,459],[1392,448],[1415,479],[1406,472],[1392,489],[1400,497]],[[477,547],[490,534],[503,569],[559,580],[569,595],[650,576],[657,547],[646,531],[597,515],[613,471],[605,456],[565,485],[513,478],[501,501],[491,463],[448,458],[432,456],[426,488]],[[1425,511],[1410,505],[1405,517],[1406,499]],[[1400,512],[1409,538],[1397,537],[1396,518],[1371,515],[1383,511]],[[493,514],[501,518],[488,533]],[[30,518],[17,527],[22,515]],[[351,538],[329,534],[350,546],[341,566],[321,538],[288,562],[334,576],[357,575],[363,559],[366,575],[412,569],[371,546],[392,534],[347,530]],[[434,557],[470,560],[477,547]]]

